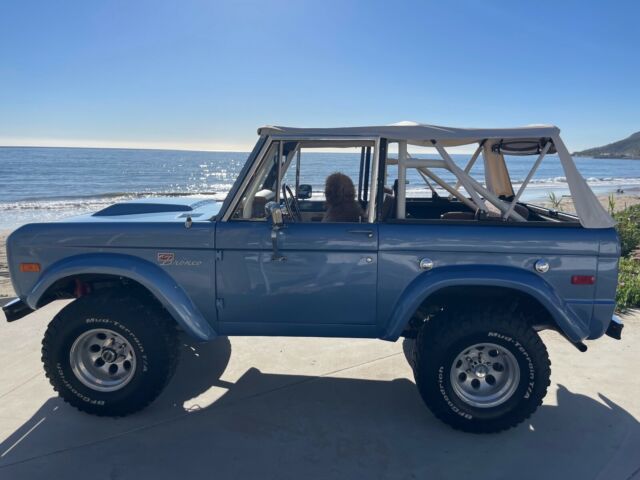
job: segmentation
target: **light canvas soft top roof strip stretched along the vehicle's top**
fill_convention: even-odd
[[[528,125],[515,128],[452,128],[416,122],[399,122],[371,127],[295,128],[267,125],[258,135],[296,136],[373,136],[390,141],[406,141],[411,145],[430,146],[436,140],[443,147],[477,143],[488,138],[530,139],[552,138],[560,133],[553,125]]]

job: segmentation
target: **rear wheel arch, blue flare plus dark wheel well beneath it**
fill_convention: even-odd
[[[412,330],[412,319],[425,306],[461,299],[520,302],[537,314],[540,328],[554,328],[577,343],[588,336],[588,325],[560,298],[553,287],[539,275],[514,267],[453,266],[434,269],[418,276],[397,300],[387,328],[385,340],[396,340]]]

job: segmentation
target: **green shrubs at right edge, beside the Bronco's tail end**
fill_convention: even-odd
[[[616,301],[620,310],[640,307],[640,205],[614,214],[618,222],[622,258],[618,274]]]

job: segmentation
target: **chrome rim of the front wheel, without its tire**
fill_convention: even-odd
[[[69,353],[71,370],[83,385],[99,392],[120,390],[133,378],[136,355],[131,344],[106,328],[80,335]]]

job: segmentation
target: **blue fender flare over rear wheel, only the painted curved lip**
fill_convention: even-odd
[[[533,272],[495,265],[459,265],[435,268],[418,276],[396,302],[382,338],[395,341],[420,305],[446,287],[483,286],[518,290],[535,298],[549,312],[561,332],[572,342],[589,335],[588,325],[571,310],[551,285]]]

